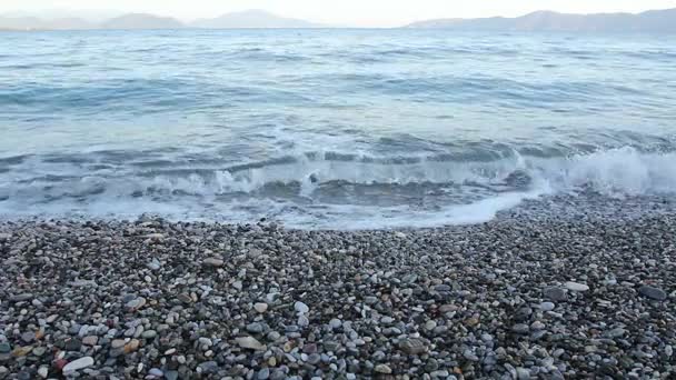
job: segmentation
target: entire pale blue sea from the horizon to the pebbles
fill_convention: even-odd
[[[673,36],[0,32],[0,219],[479,223],[676,192]]]

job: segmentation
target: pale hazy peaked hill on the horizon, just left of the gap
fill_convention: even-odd
[[[288,19],[261,10],[227,13],[215,19],[200,19],[190,23],[193,28],[242,29],[242,28],[319,28],[320,24],[299,19]]]

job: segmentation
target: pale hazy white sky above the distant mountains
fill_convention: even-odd
[[[664,8],[676,8],[676,0],[0,0],[0,13],[48,9],[116,10],[191,20],[265,9],[286,17],[361,27],[394,27],[434,18],[514,17],[544,9],[590,13]]]

